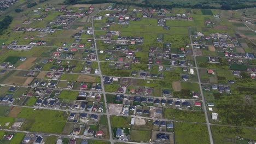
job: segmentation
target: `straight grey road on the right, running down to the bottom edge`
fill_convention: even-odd
[[[195,61],[195,69],[196,69],[196,74],[197,74],[197,78],[198,78],[198,83],[199,83],[199,87],[200,87],[200,93],[202,96],[202,103],[203,103],[203,111],[205,112],[205,119],[206,119],[206,123],[207,123],[207,128],[208,128],[208,134],[210,137],[210,142],[211,144],[213,144],[213,138],[212,138],[212,131],[211,131],[211,127],[210,127],[210,122],[209,122],[209,118],[208,118],[208,114],[207,114],[207,109],[206,109],[206,104],[205,104],[205,97],[203,96],[203,91],[202,91],[202,83],[201,83],[201,79],[200,79],[200,74],[199,74],[199,68],[197,67],[197,63],[196,63],[196,55],[194,54],[194,48],[193,48],[193,41],[191,39],[191,35],[189,35],[190,38],[190,43],[192,46],[192,50],[193,50],[193,56],[194,56],[194,61]]]

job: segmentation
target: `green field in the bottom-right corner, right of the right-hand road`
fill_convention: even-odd
[[[214,143],[238,143],[236,137],[255,140],[256,130],[247,128],[232,128],[218,125],[211,125]]]

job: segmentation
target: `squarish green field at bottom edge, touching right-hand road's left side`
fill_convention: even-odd
[[[210,143],[207,125],[195,123],[174,123],[176,144]]]

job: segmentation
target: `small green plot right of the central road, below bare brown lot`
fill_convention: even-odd
[[[110,122],[113,128],[129,128],[131,117],[110,116]]]

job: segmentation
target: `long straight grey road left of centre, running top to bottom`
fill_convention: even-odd
[[[93,32],[93,35],[94,35],[95,51],[96,51],[97,62],[98,62],[98,75],[100,75],[100,77],[101,77],[101,87],[102,87],[102,93],[103,93],[103,97],[104,97],[104,101],[105,101],[106,114],[107,114],[107,119],[108,119],[109,141],[111,142],[111,144],[114,144],[113,135],[112,135],[112,128],[111,128],[111,124],[110,124],[110,115],[109,115],[109,112],[108,112],[108,104],[107,104],[106,92],[105,92],[104,82],[103,82],[103,75],[101,73],[101,65],[100,65],[100,60],[98,58],[98,49],[97,49],[97,44],[96,44],[96,37],[95,37],[95,31],[94,31],[94,20],[93,20],[93,17],[91,17],[91,19],[92,19],[91,20],[91,24],[92,24],[92,32]]]

